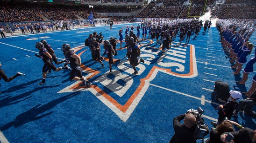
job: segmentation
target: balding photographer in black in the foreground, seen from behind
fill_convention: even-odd
[[[180,123],[184,119],[184,124]],[[170,143],[196,143],[197,138],[194,136],[194,126],[196,117],[193,113],[179,115],[173,119],[173,128],[175,134],[172,136]]]

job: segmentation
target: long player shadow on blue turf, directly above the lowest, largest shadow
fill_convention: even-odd
[[[22,93],[18,96],[15,96],[15,97],[12,97],[11,95],[0,100],[0,108],[1,107],[4,107],[4,106],[8,106],[8,105],[12,105],[12,104],[16,104],[16,103],[19,103],[21,101],[24,101],[24,100],[27,100],[28,98],[30,98],[31,96],[29,96],[31,93],[33,92],[36,92],[36,91],[39,91],[41,89],[46,89],[46,88],[53,88],[53,87],[57,87],[59,85],[55,85],[55,86],[41,86],[41,87],[38,87],[38,88],[35,88],[34,90],[32,91],[28,91],[28,92],[25,92],[25,93]],[[29,97],[28,97],[29,96]],[[21,100],[20,100],[21,99]]]

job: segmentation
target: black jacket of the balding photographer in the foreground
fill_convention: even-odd
[[[173,119],[175,134],[172,136],[170,143],[196,143],[197,139],[194,137],[194,129],[188,128],[180,123],[184,117],[185,114],[179,115]]]

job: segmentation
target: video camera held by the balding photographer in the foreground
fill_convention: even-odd
[[[187,110],[187,113],[188,112],[191,112],[196,117],[196,125],[194,127],[195,128],[194,136],[197,139],[203,139],[209,133],[208,126],[205,125],[205,121],[202,118],[202,114],[204,113],[204,110],[202,110],[201,107],[198,107],[197,110],[190,109],[190,110]]]

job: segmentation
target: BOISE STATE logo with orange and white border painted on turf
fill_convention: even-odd
[[[180,45],[173,42],[171,49],[165,54],[161,54],[159,44],[156,45],[151,40],[145,40],[141,42],[141,45],[141,57],[144,58],[145,62],[136,66],[137,75],[132,75],[134,70],[129,66],[128,59],[116,63],[112,74],[108,74],[109,69],[106,67],[106,72],[102,74],[102,71],[83,65],[81,68],[87,73],[85,77],[93,79],[91,80],[92,86],[86,88],[81,85],[81,81],[77,81],[58,93],[90,91],[114,111],[123,122],[126,122],[148,90],[150,81],[157,79],[158,72],[163,72],[169,76],[166,77],[166,84],[168,84],[168,78],[172,76],[193,78],[198,75],[194,45]],[[74,49],[76,53],[81,50],[78,53],[81,55],[88,50],[83,50],[83,48],[84,46],[79,46]],[[126,50],[120,50],[119,54],[125,55]]]

